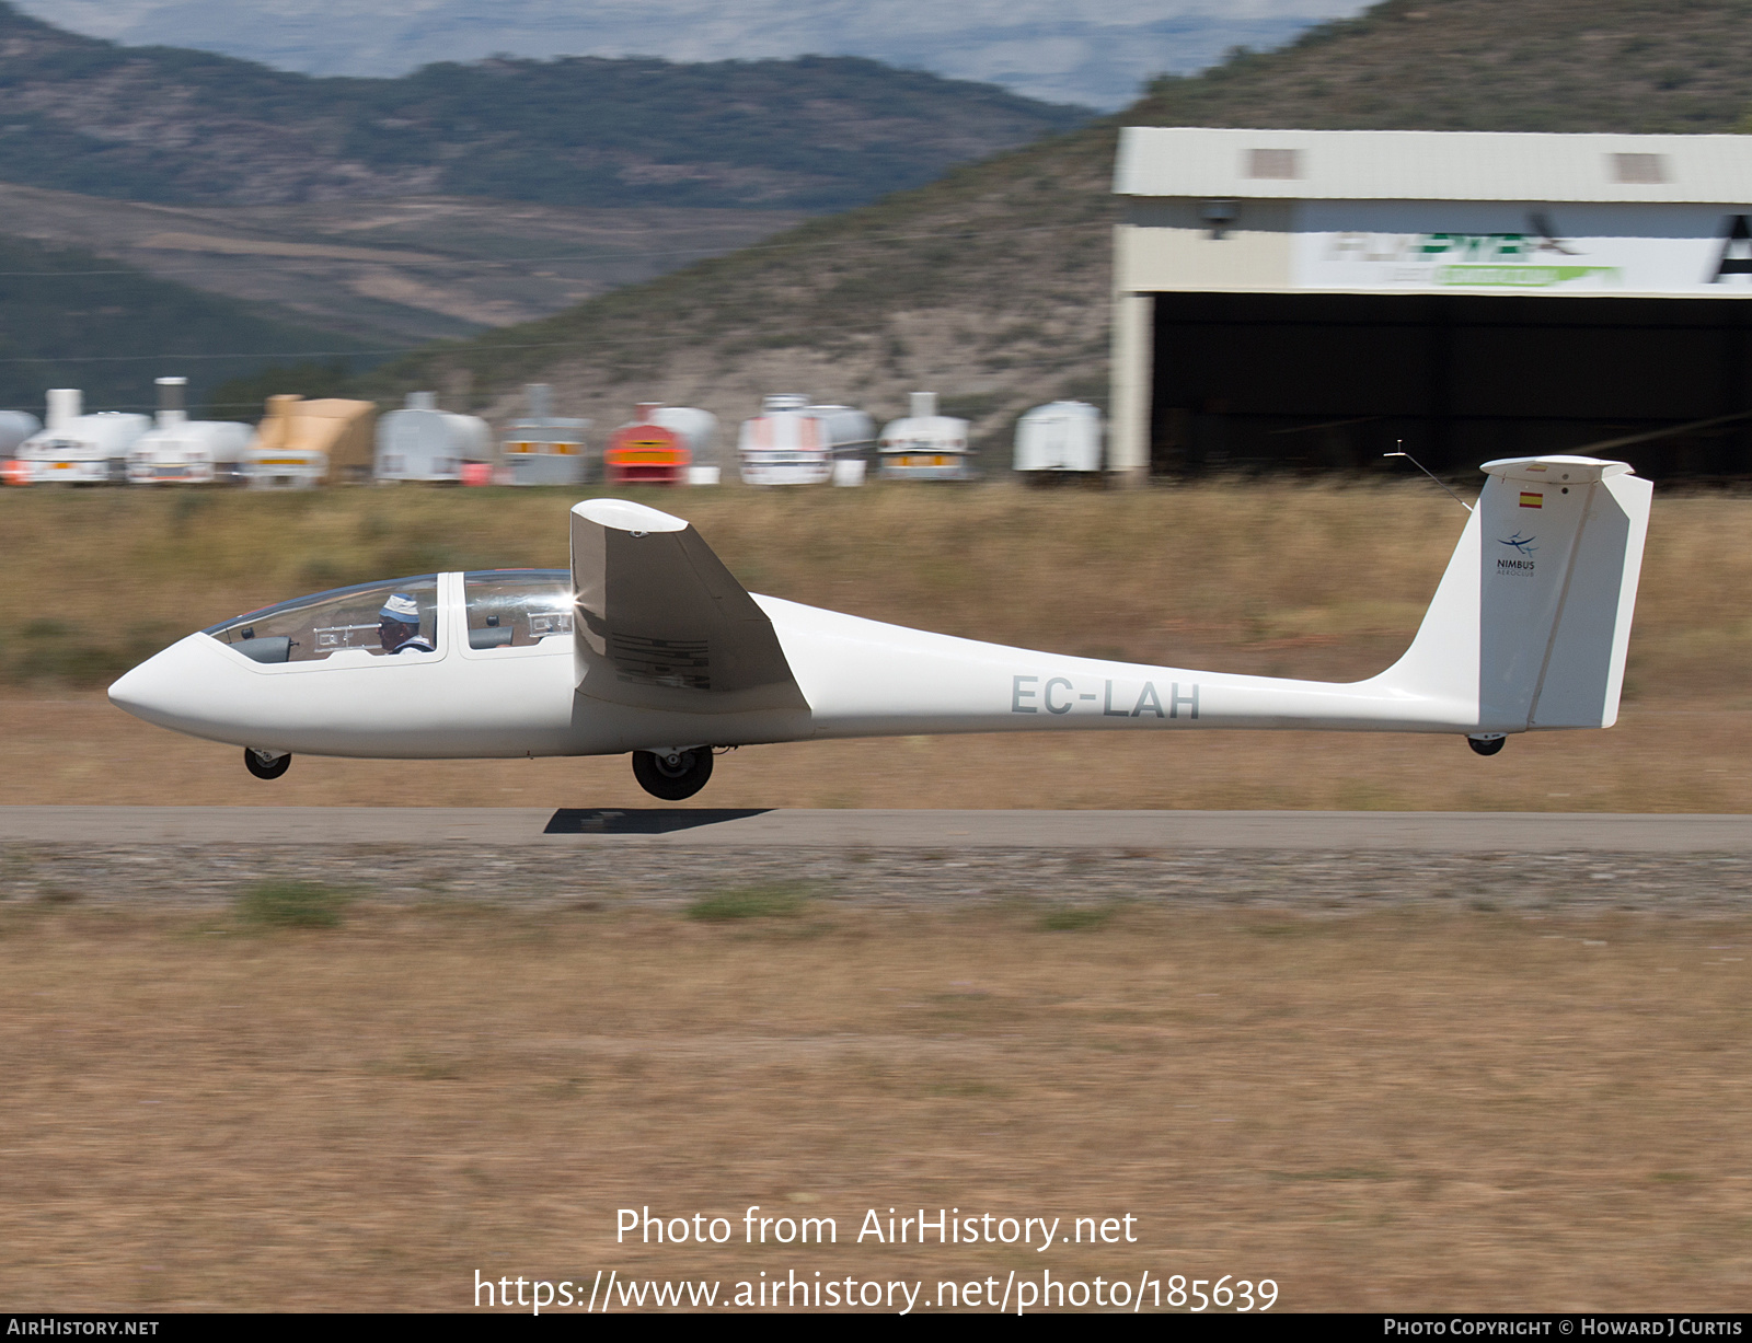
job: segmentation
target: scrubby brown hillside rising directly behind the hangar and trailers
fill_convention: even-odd
[[[1104,399],[1123,124],[1727,131],[1752,100],[1743,0],[1388,0],[1268,54],[1156,81],[1127,112],[743,252],[385,369],[473,375],[477,404],[557,383],[736,420],[771,390],[902,413],[936,389],[988,445],[1053,396]]]

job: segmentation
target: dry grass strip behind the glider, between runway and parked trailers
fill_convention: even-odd
[[[725,487],[692,518],[755,592],[1067,653],[1361,678],[1410,641],[1463,522],[1433,485],[1139,494]],[[566,562],[573,496],[0,492],[0,802],[622,805],[625,762],[300,758],[112,709],[100,686],[187,630],[301,592]],[[1621,725],[1491,760],[1405,735],[943,737],[739,751],[701,805],[1752,811],[1752,497],[1661,494]]]

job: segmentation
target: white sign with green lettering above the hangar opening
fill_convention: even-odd
[[[1302,289],[1752,292],[1752,207],[1303,201]]]

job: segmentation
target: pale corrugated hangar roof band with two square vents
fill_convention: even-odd
[[[1752,201],[1752,135],[1127,126],[1121,196]]]

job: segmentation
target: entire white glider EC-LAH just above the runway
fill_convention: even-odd
[[[258,777],[293,753],[631,751],[669,800],[704,786],[713,748],[818,737],[1325,728],[1449,732],[1491,755],[1517,732],[1612,727],[1650,485],[1593,457],[1484,471],[1417,637],[1367,681],[1058,657],[757,597],[687,522],[592,499],[571,510],[569,573],[301,597],[191,634],[109,693],[244,746]]]

